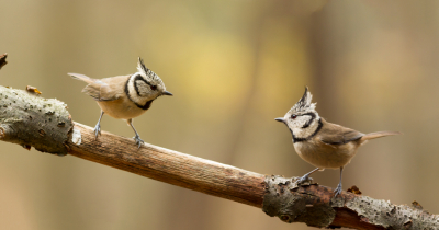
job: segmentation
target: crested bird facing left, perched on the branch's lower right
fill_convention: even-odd
[[[302,99],[285,114],[275,120],[284,123],[293,135],[294,149],[306,162],[317,169],[303,175],[299,183],[308,181],[317,170],[340,169],[340,182],[335,196],[341,193],[342,169],[356,156],[357,149],[370,139],[399,135],[398,131],[378,131],[362,134],[357,130],[326,122],[318,116],[313,95],[305,89]]]

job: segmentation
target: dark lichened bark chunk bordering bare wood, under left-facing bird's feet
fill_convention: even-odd
[[[305,222],[313,227],[327,227],[336,216],[329,203],[314,203],[313,194],[296,193],[297,180],[281,176],[266,177],[262,210],[284,222]]]

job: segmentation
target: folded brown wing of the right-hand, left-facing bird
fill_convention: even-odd
[[[319,140],[327,145],[344,145],[359,140],[364,134],[336,124],[326,123],[318,135]]]

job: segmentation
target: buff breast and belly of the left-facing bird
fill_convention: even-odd
[[[339,169],[350,162],[357,152],[354,142],[327,145],[316,138],[294,143],[294,149],[304,161],[320,169]]]

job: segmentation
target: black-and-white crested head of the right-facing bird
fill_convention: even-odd
[[[126,83],[126,93],[138,106],[144,106],[146,103],[154,101],[166,92],[165,83],[161,79],[146,68],[142,58],[138,58],[137,72],[130,77]]]

